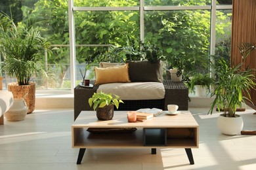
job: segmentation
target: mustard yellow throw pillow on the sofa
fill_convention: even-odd
[[[95,84],[131,82],[128,68],[128,64],[107,68],[95,67]]]

